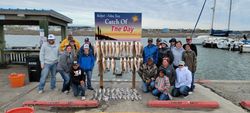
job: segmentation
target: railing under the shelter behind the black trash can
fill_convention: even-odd
[[[7,64],[25,64],[27,56],[38,55],[39,51],[39,49],[5,49],[4,59]]]

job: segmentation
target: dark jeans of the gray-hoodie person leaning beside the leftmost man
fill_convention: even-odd
[[[62,76],[62,78],[63,78],[63,88],[62,88],[62,92],[64,92],[64,91],[69,91],[69,89],[70,89],[70,83],[69,83],[69,81],[70,81],[70,76],[69,76],[69,73],[66,73],[65,71],[62,71],[62,70],[59,70],[58,71],[60,74],[61,74],[61,76]]]

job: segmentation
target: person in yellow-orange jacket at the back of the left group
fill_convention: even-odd
[[[61,42],[61,44],[60,44],[60,51],[63,52],[65,50],[65,47],[70,44],[71,40],[74,40],[75,45],[76,45],[76,49],[79,50],[79,48],[80,48],[80,42],[77,39],[73,38],[72,34],[69,34],[68,37],[65,38]]]

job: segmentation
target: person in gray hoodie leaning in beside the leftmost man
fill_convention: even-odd
[[[60,55],[59,62],[57,65],[57,71],[61,74],[63,78],[63,88],[62,92],[65,94],[69,93],[70,89],[70,68],[74,61],[74,54],[72,51],[72,46],[67,45],[63,54]]]

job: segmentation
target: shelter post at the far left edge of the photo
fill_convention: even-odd
[[[0,64],[4,66],[4,48],[5,48],[5,40],[4,40],[4,25],[0,24]]]

